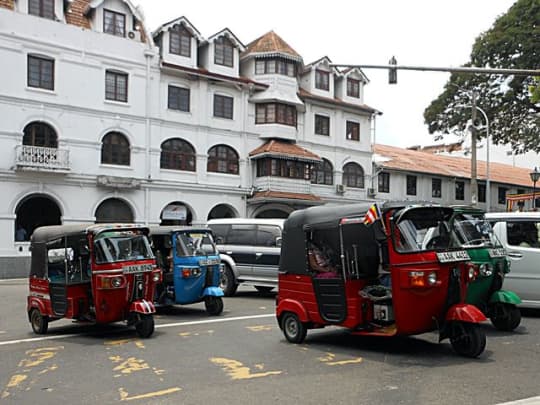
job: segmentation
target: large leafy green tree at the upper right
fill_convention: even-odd
[[[539,69],[539,21],[540,1],[517,0],[476,39],[465,66]],[[540,152],[540,104],[535,101],[535,90],[538,82],[530,76],[453,73],[424,111],[424,120],[437,139],[465,130],[474,91],[477,106],[489,117],[494,143],[510,143],[515,152]],[[478,131],[477,136],[482,138],[485,131]]]

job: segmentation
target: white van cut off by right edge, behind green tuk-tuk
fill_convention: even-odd
[[[540,308],[540,212],[493,212],[486,218],[510,260],[505,289],[519,295],[521,307]]]

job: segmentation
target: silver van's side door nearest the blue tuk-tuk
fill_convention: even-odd
[[[231,224],[223,251],[232,257],[240,278],[253,274],[255,263],[255,238],[257,227],[255,224]]]

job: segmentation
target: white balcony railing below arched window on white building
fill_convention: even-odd
[[[67,149],[17,145],[15,155],[15,165],[18,169],[51,171],[70,170],[69,150]]]

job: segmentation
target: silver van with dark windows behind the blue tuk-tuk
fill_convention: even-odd
[[[226,296],[234,295],[240,283],[251,284],[261,292],[277,287],[284,222],[266,218],[208,221],[223,264],[220,286]]]

